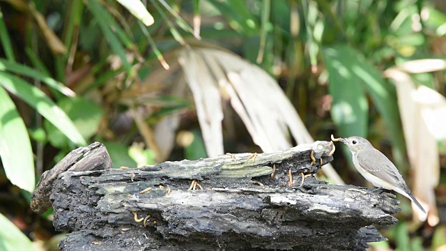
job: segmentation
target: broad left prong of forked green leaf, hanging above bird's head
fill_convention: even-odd
[[[353,73],[356,54],[346,47],[323,50],[332,95],[331,115],[340,137],[367,135],[369,105],[361,79]]]

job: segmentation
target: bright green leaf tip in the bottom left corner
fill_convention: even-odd
[[[33,244],[13,222],[0,213],[0,250],[34,250]]]

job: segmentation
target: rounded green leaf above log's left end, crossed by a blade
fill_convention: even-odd
[[[91,100],[83,97],[64,98],[57,103],[57,106],[68,115],[84,139],[89,139],[98,131],[104,112]],[[43,125],[48,133],[48,141],[53,146],[63,148],[69,145],[61,130],[57,130],[48,121],[44,121]]]

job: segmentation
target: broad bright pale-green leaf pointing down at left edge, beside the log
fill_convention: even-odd
[[[36,185],[33,149],[25,123],[8,93],[0,87],[0,157],[6,177],[32,192]]]

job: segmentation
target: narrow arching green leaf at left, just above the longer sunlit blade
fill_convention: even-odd
[[[71,91],[71,89],[69,89],[67,86],[64,86],[61,82],[57,82],[56,80],[52,79],[45,73],[40,73],[37,70],[29,68],[28,66],[24,66],[20,63],[14,63],[6,61],[4,59],[0,59],[0,71],[6,71],[6,70],[27,77],[32,77],[34,79],[38,79],[47,84],[49,87],[52,87],[53,89],[65,94],[66,96],[69,97],[76,96],[76,93],[74,93],[74,91]]]

